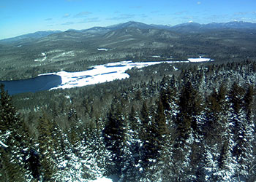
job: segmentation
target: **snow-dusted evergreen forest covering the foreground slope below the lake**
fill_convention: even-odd
[[[12,98],[1,87],[0,181],[256,181],[255,61],[127,73]]]

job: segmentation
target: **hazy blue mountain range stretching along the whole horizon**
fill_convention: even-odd
[[[45,36],[49,36],[51,34],[58,33],[77,33],[83,34],[83,36],[99,36],[104,35],[110,31],[117,31],[123,28],[140,28],[140,29],[163,29],[169,31],[176,31],[179,33],[198,33],[209,30],[218,30],[218,29],[236,29],[236,30],[244,30],[244,29],[256,29],[256,23],[249,23],[243,21],[233,21],[228,23],[208,23],[208,24],[200,24],[200,23],[181,23],[178,25],[170,26],[170,25],[147,25],[145,23],[129,21],[127,23],[120,23],[117,25],[110,25],[106,27],[93,27],[84,30],[74,30],[69,29],[67,31],[37,31],[35,33],[29,33],[22,36],[16,36],[9,39],[2,39],[0,43],[13,43],[21,40],[26,41],[34,41],[35,39],[41,39]]]

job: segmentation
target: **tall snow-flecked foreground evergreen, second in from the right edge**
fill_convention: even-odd
[[[222,164],[220,165],[222,168],[222,178],[233,178],[238,179],[238,181],[240,178],[248,178],[247,167],[243,164],[244,158],[246,158],[244,155],[252,154],[252,152],[247,153],[247,151],[244,151],[249,139],[246,138],[249,128],[247,127],[248,124],[246,124],[246,114],[243,107],[244,94],[244,88],[234,82],[228,95],[228,126],[226,127],[226,135],[223,139],[226,144],[219,159],[220,164]],[[225,157],[222,157],[222,155]]]

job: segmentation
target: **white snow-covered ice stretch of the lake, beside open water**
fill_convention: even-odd
[[[199,58],[200,59],[200,58]],[[203,58],[201,58],[203,59]],[[201,62],[202,60],[199,60]],[[195,61],[193,61],[195,62]],[[189,63],[189,61],[155,61],[155,62],[132,62],[132,60],[121,61],[117,63],[108,63],[105,65],[91,66],[91,69],[78,72],[60,71],[50,73],[61,76],[61,85],[53,89],[69,89],[73,87],[83,87],[89,84],[99,84],[111,82],[115,79],[127,79],[129,74],[125,71],[131,68],[143,68],[159,63]],[[175,68],[176,69],[176,68]],[[48,75],[48,74],[41,74]]]

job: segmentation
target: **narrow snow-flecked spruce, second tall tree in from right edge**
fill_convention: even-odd
[[[227,112],[227,147],[225,157],[225,170],[223,173],[223,178],[241,178],[244,177],[244,170],[241,170],[241,165],[239,160],[243,151],[241,150],[241,141],[244,138],[244,124],[246,123],[244,109],[243,109],[243,98],[244,98],[244,88],[240,87],[236,82],[230,88],[228,94],[229,108]]]

